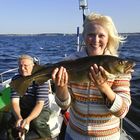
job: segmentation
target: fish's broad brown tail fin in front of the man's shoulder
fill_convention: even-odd
[[[32,82],[32,79],[27,79],[26,77],[19,77],[10,82],[10,87],[22,96],[26,93],[27,88],[31,85]]]

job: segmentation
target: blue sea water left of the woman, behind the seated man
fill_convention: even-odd
[[[0,35],[0,72],[17,66],[17,57],[30,54],[41,63],[59,61],[76,51],[76,35]]]

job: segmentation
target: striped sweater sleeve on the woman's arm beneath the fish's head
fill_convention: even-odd
[[[117,117],[124,118],[131,105],[130,96],[131,74],[117,76],[113,82],[112,90],[116,93],[110,111]]]

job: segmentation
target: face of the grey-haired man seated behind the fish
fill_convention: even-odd
[[[29,76],[32,74],[34,63],[30,59],[22,59],[19,61],[19,72],[22,76]]]

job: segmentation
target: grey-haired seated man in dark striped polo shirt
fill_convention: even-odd
[[[34,60],[29,55],[21,55],[18,59],[19,76],[29,76],[34,67]],[[12,92],[11,101],[14,114],[15,137],[20,137],[22,130],[31,128],[40,138],[51,139],[51,132],[48,124],[51,110],[49,108],[49,82],[37,85],[35,82],[28,87],[26,93],[20,96]]]

